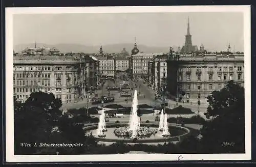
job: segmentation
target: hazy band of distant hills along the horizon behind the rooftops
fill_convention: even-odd
[[[37,47],[45,46],[45,47],[56,47],[60,50],[60,52],[85,52],[85,53],[98,53],[100,46],[86,46],[81,44],[54,44],[48,45],[45,43],[36,43]],[[30,44],[19,44],[14,46],[15,52],[20,52],[26,47],[34,47],[34,43]],[[110,44],[102,46],[103,52],[114,53],[114,52],[121,52],[123,48],[125,48],[130,54],[131,50],[133,49],[133,43],[120,43],[120,44]],[[156,46],[146,46],[146,45],[137,45],[140,52],[145,53],[167,53],[169,51],[168,46],[166,47],[156,47]],[[174,47],[176,49],[177,47]]]

